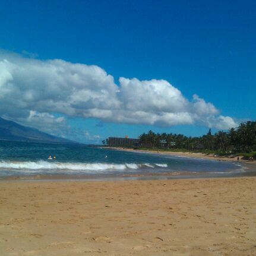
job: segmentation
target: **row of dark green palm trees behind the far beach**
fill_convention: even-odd
[[[209,129],[202,137],[187,137],[182,134],[154,133],[148,131],[139,137],[141,147],[186,150],[209,150],[222,153],[246,153],[256,151],[256,122],[248,121],[231,128],[211,134]]]

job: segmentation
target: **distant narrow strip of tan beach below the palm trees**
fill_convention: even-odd
[[[208,159],[208,160],[216,160],[216,161],[226,161],[226,162],[238,162],[238,163],[252,163],[256,164],[256,161],[252,160],[239,160],[237,161],[236,157],[222,157],[222,156],[215,156],[213,154],[204,154],[204,153],[194,153],[194,152],[182,152],[182,151],[157,151],[157,150],[138,150],[134,148],[122,148],[122,147],[102,147],[109,150],[120,150],[120,151],[129,151],[129,152],[142,152],[142,153],[153,153],[153,154],[164,154],[170,156],[179,156],[179,157],[191,157],[191,158],[201,158],[201,159]]]

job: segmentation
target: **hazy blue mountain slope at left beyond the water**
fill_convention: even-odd
[[[0,140],[39,143],[75,143],[74,141],[55,137],[35,128],[24,127],[4,118],[0,118]]]

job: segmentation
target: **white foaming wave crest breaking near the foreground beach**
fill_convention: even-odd
[[[167,164],[162,163],[65,163],[65,162],[14,162],[1,161],[0,170],[69,170],[69,171],[108,171],[108,170],[135,170],[142,167],[167,167]]]

